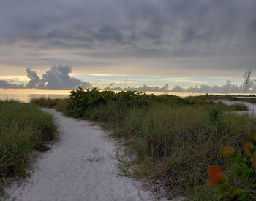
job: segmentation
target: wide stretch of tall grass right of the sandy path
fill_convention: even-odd
[[[56,101],[56,107],[72,115],[69,113],[72,101],[83,103],[84,99],[79,95],[78,98],[62,103]],[[179,101],[173,96],[142,106],[127,106],[124,99],[112,98],[78,111],[80,117],[100,122],[102,127],[112,131],[114,138],[124,141],[126,153],[133,156],[119,158],[125,176],[161,178],[162,185],[170,192],[184,194],[189,200],[218,200],[217,194],[206,184],[206,169],[209,165],[219,165],[227,170],[228,162],[220,154],[221,147],[242,148],[251,138],[256,130],[256,119],[229,112],[245,109],[240,104],[206,103],[202,97]],[[239,182],[230,180],[231,184]]]

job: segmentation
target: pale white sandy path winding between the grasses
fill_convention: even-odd
[[[59,142],[34,162],[31,176],[7,189],[7,200],[156,200],[139,181],[118,176],[116,145],[98,126],[48,109]]]

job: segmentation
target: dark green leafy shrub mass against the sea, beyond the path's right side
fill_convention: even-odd
[[[73,90],[70,93],[68,109],[73,117],[85,117],[86,112],[90,109],[97,106],[106,106],[109,103],[115,104],[118,111],[125,111],[131,107],[140,108],[151,103],[166,103],[169,105],[190,103],[174,95],[148,95],[135,91],[99,92],[96,89],[85,91],[82,87],[79,87],[78,90]]]

